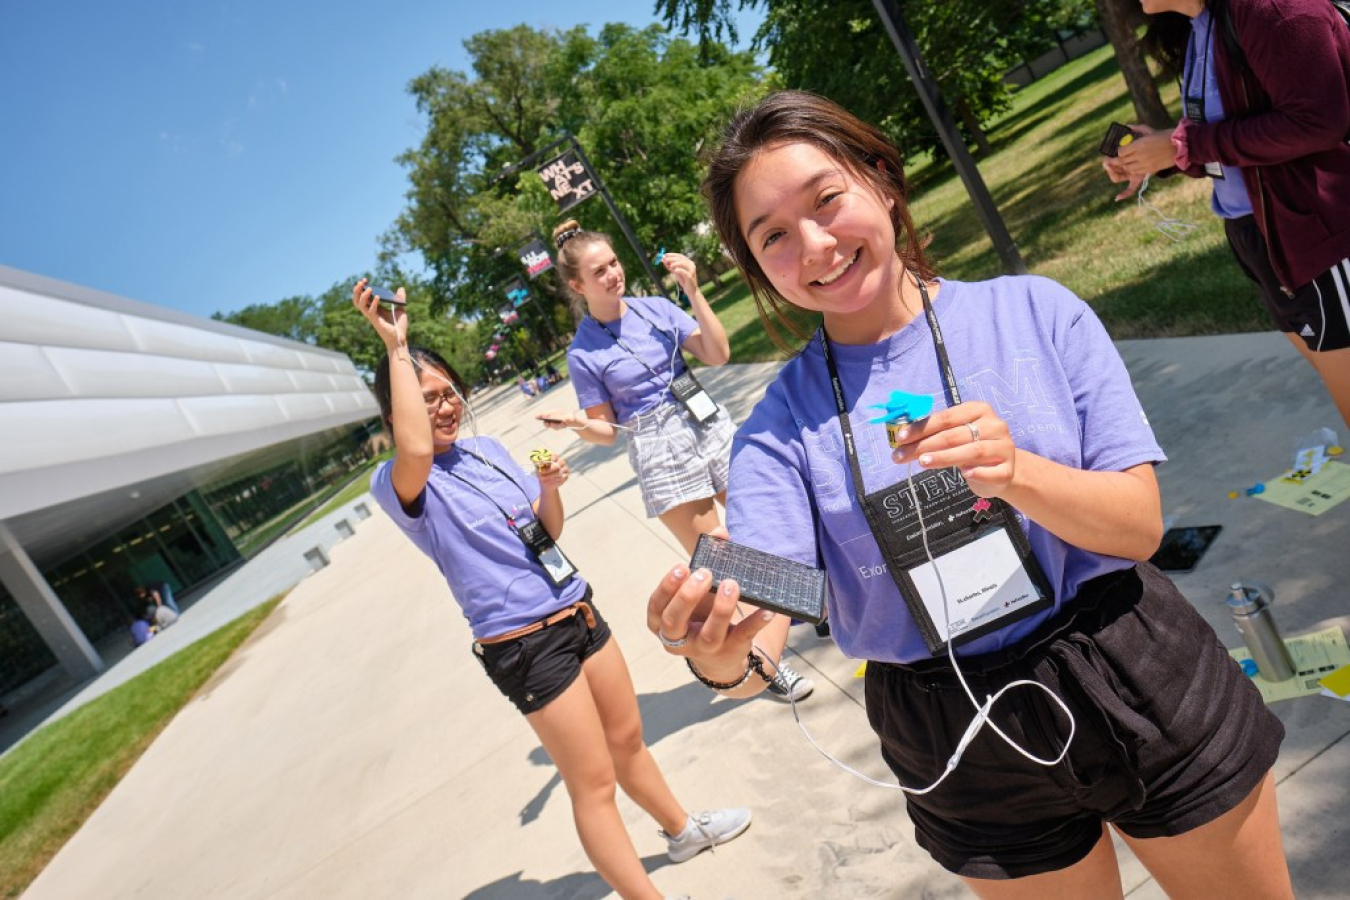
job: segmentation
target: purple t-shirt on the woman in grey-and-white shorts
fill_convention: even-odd
[[[664,297],[625,297],[624,302],[628,310],[618,320],[605,322],[605,328],[614,332],[614,337],[624,341],[632,354],[590,316],[576,327],[572,345],[567,348],[567,368],[576,389],[576,402],[582,409],[608,402],[620,422],[671,402],[667,389],[684,371],[684,359],[678,348],[698,329],[698,320]]]

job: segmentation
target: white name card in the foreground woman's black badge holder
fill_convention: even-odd
[[[1042,600],[1003,529],[944,553],[936,563],[917,565],[909,575],[944,642],[954,638],[960,644],[964,634],[973,637],[1021,618]]]

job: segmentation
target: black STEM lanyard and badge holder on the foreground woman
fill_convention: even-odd
[[[915,282],[923,297],[923,314],[933,333],[948,402],[956,406],[961,394],[942,343],[942,329],[927,289],[922,281]],[[1013,507],[996,498],[977,498],[956,467],[925,471],[914,476],[913,486],[910,479],[900,479],[867,494],[844,383],[824,325],[819,335],[853,490],[891,580],[929,652],[937,656],[946,649],[948,640],[960,645],[1049,607],[1053,596],[1049,580],[1031,555]],[[923,503],[922,521],[915,502]]]

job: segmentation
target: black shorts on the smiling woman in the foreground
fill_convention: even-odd
[[[1214,629],[1149,564],[1094,579],[1026,645],[961,660],[979,700],[1033,679],[1073,711],[1068,756],[1042,766],[986,726],[938,788],[906,795],[919,845],[972,878],[1018,878],[1079,862],[1111,822],[1135,838],[1181,834],[1234,808],[1274,764],[1284,726]],[[900,784],[946,766],[975,710],[946,658],[869,663],[867,711]],[[992,721],[1042,760],[1069,723],[1019,687]]]

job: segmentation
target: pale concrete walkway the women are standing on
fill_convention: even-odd
[[[1242,497],[1292,461],[1295,434],[1342,432],[1312,371],[1274,333],[1120,344],[1170,461],[1158,470],[1177,525],[1223,525],[1177,576],[1230,646],[1235,578],[1277,596],[1285,636],[1347,625],[1350,505],[1322,517]],[[775,364],[701,372],[744,418]],[[647,739],[690,808],[747,804],[753,827],[716,854],[668,865],[621,800],[639,853],[667,893],[736,897],[961,897],[913,842],[902,799],[825,762],[774,700],[714,699],[645,631],[645,596],[682,559],[643,517],[622,449],[544,433],[529,416],[574,402],[494,393],[479,429],[520,459],[566,452],[562,542],[593,582],[640,694]],[[524,719],[483,677],[435,567],[381,514],[331,551],[259,633],[174,719],[24,895],[72,897],[612,896],[576,841],[566,791]],[[248,590],[240,584],[240,591]],[[266,598],[263,598],[266,599]],[[890,780],[861,706],[857,663],[795,629],[792,664],[814,677],[806,726],[836,757]],[[1297,896],[1342,897],[1350,704],[1273,707],[1288,727],[1280,804]],[[1162,897],[1129,853],[1126,889]]]

